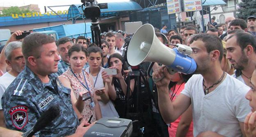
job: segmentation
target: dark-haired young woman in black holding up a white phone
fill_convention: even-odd
[[[114,101],[115,108],[120,117],[125,118],[125,102],[126,95],[131,95],[134,89],[134,80],[130,80],[130,90],[127,91],[126,76],[124,75],[125,66],[123,64],[123,57],[114,53],[108,58],[110,69],[117,69],[117,75],[107,75],[105,71],[102,72],[102,78],[105,82],[105,90],[109,93],[110,99]]]

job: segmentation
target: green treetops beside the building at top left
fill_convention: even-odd
[[[0,16],[11,16],[11,14],[22,14],[22,13],[28,13],[31,12],[29,9],[20,9],[19,7],[9,7],[2,10],[2,15]]]

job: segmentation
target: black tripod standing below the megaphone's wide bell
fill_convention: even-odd
[[[135,80],[134,92],[129,96],[130,80]],[[144,84],[142,84],[142,81]],[[126,79],[126,113],[125,117],[133,120],[133,137],[149,137],[153,130],[151,126],[151,93],[148,81],[142,69],[129,72]],[[129,91],[129,92],[128,92]]]

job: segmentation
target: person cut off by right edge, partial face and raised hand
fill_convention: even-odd
[[[256,137],[256,70],[251,75],[250,90],[246,94],[249,100],[251,112],[247,115],[244,122],[244,129],[247,137]]]

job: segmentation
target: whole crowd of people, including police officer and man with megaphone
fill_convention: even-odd
[[[155,28],[169,48],[190,46],[197,69],[171,75],[166,66],[153,64],[144,83],[155,93],[152,137],[256,136],[256,17],[214,20],[206,33],[194,24],[178,31]],[[133,70],[124,60],[125,32],[101,33],[101,47],[84,36],[55,41],[31,33],[17,40],[22,33],[12,33],[0,53],[0,137],[21,137],[52,106],[60,115],[35,136],[82,137],[102,117],[129,118],[127,97],[138,83],[127,80]],[[108,75],[107,68],[117,74]]]

